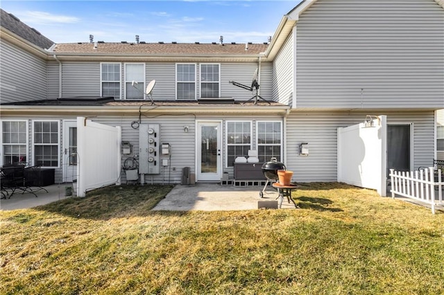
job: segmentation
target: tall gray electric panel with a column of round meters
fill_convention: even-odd
[[[160,125],[139,125],[139,173],[160,173]]]

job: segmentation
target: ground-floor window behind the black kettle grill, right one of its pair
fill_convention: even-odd
[[[279,121],[257,122],[257,156],[259,162],[271,158],[281,161],[282,124]]]

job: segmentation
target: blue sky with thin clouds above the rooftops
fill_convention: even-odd
[[[55,43],[263,43],[300,0],[21,1],[0,7]]]

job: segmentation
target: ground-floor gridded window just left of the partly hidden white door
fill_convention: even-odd
[[[58,121],[33,122],[34,165],[58,167]]]

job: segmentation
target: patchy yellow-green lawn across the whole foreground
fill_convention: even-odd
[[[0,294],[444,293],[444,213],[335,183],[298,210],[150,211],[170,189],[0,211]]]

